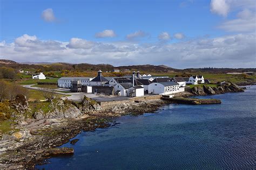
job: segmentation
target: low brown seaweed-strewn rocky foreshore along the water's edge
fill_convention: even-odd
[[[185,93],[184,96],[198,95]],[[55,154],[45,156],[46,148],[55,150],[56,147],[70,142],[71,138],[76,137],[82,131],[108,128],[114,125],[113,118],[156,112],[164,104],[169,104],[169,102],[160,99],[139,102],[130,101],[129,104],[117,104],[115,107],[110,107],[111,109],[93,111],[78,118],[53,119],[50,121],[46,119],[44,122],[46,125],[31,133],[32,137],[28,141],[25,141],[14,150],[8,150],[9,154],[5,154],[0,159],[0,168],[34,168],[35,165],[47,163],[44,160],[55,156]]]

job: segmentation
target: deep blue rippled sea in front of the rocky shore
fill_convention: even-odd
[[[73,139],[75,154],[45,169],[255,169],[256,86],[205,96],[223,103],[165,105],[154,114],[124,116],[107,129]]]

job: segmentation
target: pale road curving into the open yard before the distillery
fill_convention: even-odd
[[[46,88],[40,88],[40,87],[32,87],[36,84],[29,84],[29,85],[24,85],[23,87],[28,88],[28,89],[34,89],[34,90],[41,90],[41,91],[49,91],[52,89],[46,89]],[[58,91],[56,91],[58,90]],[[96,95],[92,93],[64,93],[60,91],[69,91],[69,89],[55,89],[53,91],[56,94],[61,94],[61,95],[70,95],[66,97],[62,97],[63,99],[68,99],[72,101],[82,101],[83,96],[87,96],[89,98],[93,98],[93,100],[96,100],[97,102],[108,102],[108,101],[120,101],[120,100],[128,100],[130,97],[122,97],[122,96],[106,96],[106,95]]]

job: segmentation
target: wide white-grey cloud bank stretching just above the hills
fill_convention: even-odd
[[[24,34],[0,46],[5,59],[49,62],[110,63],[112,65],[165,64],[187,67],[255,67],[256,34],[184,40],[177,43],[135,44],[133,41],[95,42],[71,38],[69,42],[41,40]]]

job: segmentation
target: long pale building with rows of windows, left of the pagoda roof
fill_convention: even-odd
[[[71,82],[74,80],[80,80],[81,84],[84,86],[90,86],[90,77],[60,77],[58,79],[58,87],[61,88],[71,88]]]

